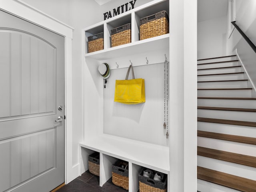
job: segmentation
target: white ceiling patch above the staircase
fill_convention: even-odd
[[[228,0],[198,0],[197,1],[197,22],[226,16]]]

